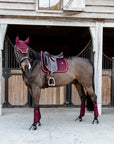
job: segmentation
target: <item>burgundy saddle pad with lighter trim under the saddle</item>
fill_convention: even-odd
[[[50,72],[47,70],[47,68],[44,65],[43,62],[43,51],[40,52],[41,53],[41,65],[42,65],[42,70],[43,72]],[[57,66],[58,66],[58,70],[56,72],[61,73],[61,72],[66,72],[68,70],[68,65],[67,65],[67,61],[65,58],[62,59],[57,59]]]

